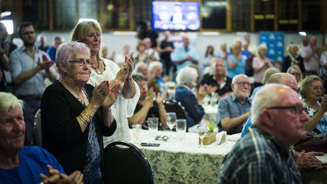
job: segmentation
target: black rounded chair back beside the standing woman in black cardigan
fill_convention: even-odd
[[[105,184],[154,183],[150,163],[135,145],[126,141],[112,142],[106,146],[104,157]]]

